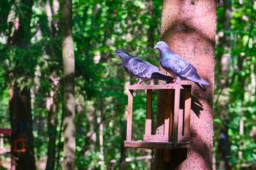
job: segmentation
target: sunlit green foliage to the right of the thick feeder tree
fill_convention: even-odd
[[[231,48],[224,50],[224,47],[216,48],[218,53],[230,53],[228,82],[225,86],[216,81],[215,89],[215,150],[221,145],[219,142],[219,128],[225,124],[228,127],[228,135],[231,142],[230,161],[232,169],[241,169],[246,164],[256,164],[256,145],[253,129],[256,128],[255,111],[255,74],[256,74],[256,34],[255,17],[256,6],[253,0],[232,1],[231,3],[231,26],[224,30],[223,23],[218,23],[217,34],[224,33],[230,35]],[[224,6],[219,6],[217,10],[218,18],[223,18],[225,14]],[[218,59],[217,59],[218,60]],[[216,63],[216,68],[221,67],[221,63]],[[216,69],[217,77],[220,72]],[[217,78],[218,80],[218,78]],[[223,80],[222,80],[223,81]],[[227,106],[221,106],[223,101],[229,100]],[[224,110],[227,108],[226,110]],[[220,113],[225,116],[219,116]],[[243,124],[241,124],[243,120]],[[223,123],[224,122],[224,123]],[[241,132],[240,129],[243,129]],[[217,164],[221,162],[221,157],[216,154]]]

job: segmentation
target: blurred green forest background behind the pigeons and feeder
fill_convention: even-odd
[[[72,2],[76,168],[148,169],[153,163],[151,150],[123,146],[127,86],[137,80],[125,72],[120,58],[113,54],[122,48],[158,66],[153,47],[160,39],[161,1]],[[10,91],[16,82],[30,96],[38,169],[61,169],[60,1],[1,0],[0,16],[0,128],[11,128]],[[218,0],[217,17],[214,169],[255,169],[256,1]],[[156,98],[154,92],[153,113]],[[134,98],[133,137],[137,140],[144,131],[145,99],[144,92]],[[0,155],[5,167],[11,157],[8,143],[10,138],[4,138],[6,152]]]

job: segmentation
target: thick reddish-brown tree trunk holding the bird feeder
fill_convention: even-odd
[[[216,1],[163,0],[162,7],[161,40],[193,64],[211,85],[203,92],[192,82],[181,82],[192,84],[191,147],[172,150],[170,164],[156,150],[155,169],[212,170]],[[164,101],[165,94],[159,91],[156,134],[163,134]]]

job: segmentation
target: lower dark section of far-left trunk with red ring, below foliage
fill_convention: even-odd
[[[16,170],[35,170],[30,91],[27,87],[20,90],[16,81],[10,86],[10,118],[12,127],[11,170],[15,168]]]

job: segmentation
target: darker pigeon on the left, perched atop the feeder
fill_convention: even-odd
[[[166,83],[174,82],[173,77],[161,73],[156,66],[141,58],[130,55],[122,49],[118,49],[115,55],[122,59],[125,71],[139,79],[136,85],[141,85],[144,80],[152,79],[163,80]]]

